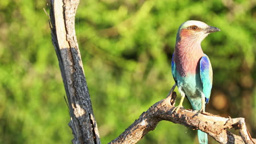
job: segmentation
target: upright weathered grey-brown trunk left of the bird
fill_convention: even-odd
[[[79,0],[50,3],[51,36],[68,99],[72,142],[101,143],[75,36],[74,20]]]

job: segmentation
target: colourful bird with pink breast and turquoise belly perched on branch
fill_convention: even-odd
[[[208,34],[218,31],[217,27],[195,20],[185,21],[179,26],[171,65],[181,101],[174,112],[183,107],[185,97],[193,110],[205,112],[211,95],[213,71],[209,57],[202,51],[201,42]],[[208,143],[206,133],[197,130],[197,135],[200,144]]]

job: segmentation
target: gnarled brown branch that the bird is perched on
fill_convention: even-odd
[[[180,109],[178,113],[173,112],[176,93],[172,94],[172,91],[175,86],[173,86],[166,99],[149,107],[124,133],[109,143],[136,143],[150,130],[154,130],[162,120],[205,131],[219,143],[252,144],[256,142],[256,139],[252,139],[248,133],[244,118],[224,118],[207,112],[198,113],[186,109]],[[230,133],[227,129],[231,128],[239,129],[241,136]]]

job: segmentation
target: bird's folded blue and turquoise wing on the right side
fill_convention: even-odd
[[[200,59],[200,77],[205,94],[206,104],[208,103],[212,89],[212,65],[207,55]]]

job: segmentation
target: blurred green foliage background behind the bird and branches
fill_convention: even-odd
[[[0,143],[73,138],[43,8],[49,11],[45,1],[0,1]],[[80,2],[75,26],[102,143],[166,97],[177,29],[187,20],[222,30],[202,42],[214,73],[206,111],[245,117],[256,137],[255,1],[88,0]],[[184,106],[191,108],[188,100]],[[197,135],[162,121],[138,143],[197,143]]]

